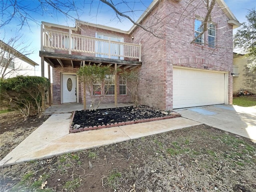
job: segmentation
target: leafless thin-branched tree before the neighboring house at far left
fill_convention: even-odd
[[[33,52],[28,50],[29,45],[24,46],[21,42],[22,36],[14,36],[6,43],[0,40],[0,78],[6,76],[23,75],[30,72],[31,69],[22,65],[21,58],[28,56]]]

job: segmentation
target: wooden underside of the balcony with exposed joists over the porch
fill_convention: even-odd
[[[100,57],[91,57],[91,56],[81,56],[81,55],[71,55],[71,54],[63,54],[63,53],[53,53],[40,51],[40,57],[44,57],[44,61],[46,61],[50,66],[62,66],[64,67],[73,67],[79,68],[80,66],[96,64],[96,65],[112,65],[117,64],[118,67],[123,67],[124,69],[132,69],[138,66],[142,66],[142,62],[138,61],[126,61],[120,59],[110,59],[110,58],[100,58]]]

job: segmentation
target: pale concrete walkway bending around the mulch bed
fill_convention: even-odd
[[[0,161],[10,166],[87,150],[202,123],[178,117],[69,134],[71,113],[53,114]]]

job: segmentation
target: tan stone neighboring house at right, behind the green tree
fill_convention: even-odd
[[[256,72],[250,72],[247,64],[252,62],[240,49],[233,51],[233,94],[245,89],[256,94]]]

